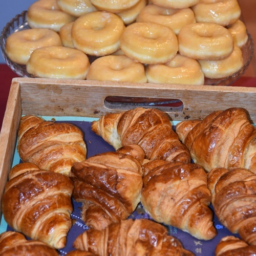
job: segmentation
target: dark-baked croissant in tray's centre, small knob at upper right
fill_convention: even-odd
[[[140,162],[133,157],[136,152]],[[127,145],[73,164],[73,198],[83,203],[81,217],[87,226],[103,229],[132,214],[140,202],[143,159],[142,148]]]

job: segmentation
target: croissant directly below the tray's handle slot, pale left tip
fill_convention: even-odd
[[[92,131],[117,150],[129,144],[140,145],[147,159],[190,162],[188,149],[172,130],[169,117],[157,109],[136,108],[106,114],[93,121]]]

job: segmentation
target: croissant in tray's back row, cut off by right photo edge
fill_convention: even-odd
[[[215,111],[202,121],[182,121],[176,132],[194,162],[207,172],[223,167],[246,168],[256,174],[256,127],[244,109]]]

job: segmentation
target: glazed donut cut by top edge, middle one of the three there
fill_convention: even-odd
[[[135,6],[140,0],[91,0],[91,3],[101,11],[123,12]]]

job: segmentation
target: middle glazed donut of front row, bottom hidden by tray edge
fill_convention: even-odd
[[[146,82],[145,68],[125,55],[108,55],[95,59],[87,80]]]

